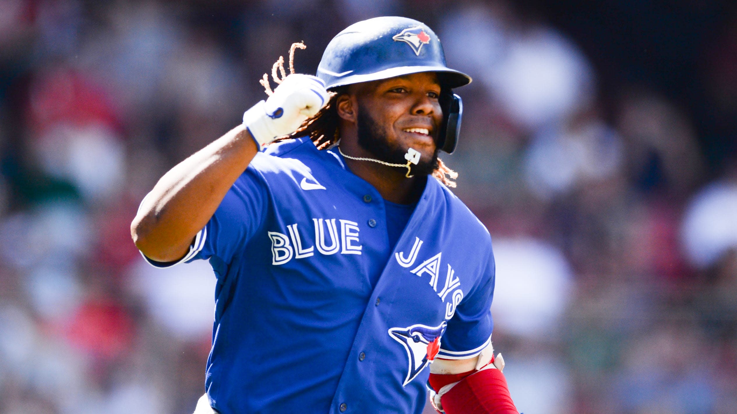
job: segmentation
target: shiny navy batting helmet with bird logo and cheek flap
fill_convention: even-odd
[[[450,89],[467,85],[471,77],[445,65],[445,54],[435,32],[420,21],[403,17],[377,17],[352,24],[325,48],[317,76],[326,88],[394,76],[435,72],[443,93],[443,125],[438,147],[455,150],[463,104]]]

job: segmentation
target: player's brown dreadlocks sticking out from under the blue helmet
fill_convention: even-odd
[[[290,74],[295,73],[294,51],[296,51],[296,49],[306,48],[307,46],[304,46],[304,43],[302,42],[292,43],[292,46],[289,49]],[[271,67],[271,78],[273,79],[273,82],[279,85],[284,81],[285,77],[287,77],[287,71],[284,69],[284,57],[279,56],[279,60],[276,60]],[[268,96],[273,94],[268,74],[264,74],[262,79],[259,79],[259,83],[264,87],[264,91]],[[325,104],[318,113],[312,115],[312,118],[304,120],[295,132],[276,138],[273,142],[276,143],[293,138],[310,137],[310,140],[312,140],[312,143],[314,143],[318,149],[327,149],[338,143],[338,140],[340,140],[340,129],[338,128],[339,117],[336,102],[338,101],[338,96],[345,93],[346,89],[347,87],[338,87],[334,88],[334,90],[329,90],[327,104]],[[458,178],[458,173],[448,168],[442,160],[438,159],[438,168],[433,171],[432,175],[447,187],[455,188],[455,181],[453,180]]]

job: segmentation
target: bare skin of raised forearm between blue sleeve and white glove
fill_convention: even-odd
[[[153,260],[184,257],[256,152],[251,135],[237,126],[175,165],[158,180],[130,225],[136,246]]]

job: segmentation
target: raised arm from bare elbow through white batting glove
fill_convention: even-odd
[[[303,74],[287,76],[267,101],[245,111],[242,125],[158,180],[130,224],[136,246],[161,262],[184,257],[192,239],[258,153],[254,140],[266,144],[295,131],[326,101],[328,94],[320,79]]]

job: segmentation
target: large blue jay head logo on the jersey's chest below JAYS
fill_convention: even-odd
[[[389,336],[401,343],[407,351],[409,360],[407,376],[402,387],[408,385],[427,365],[435,359],[440,350],[440,337],[447,323],[440,326],[416,324],[406,328],[391,328]]]

